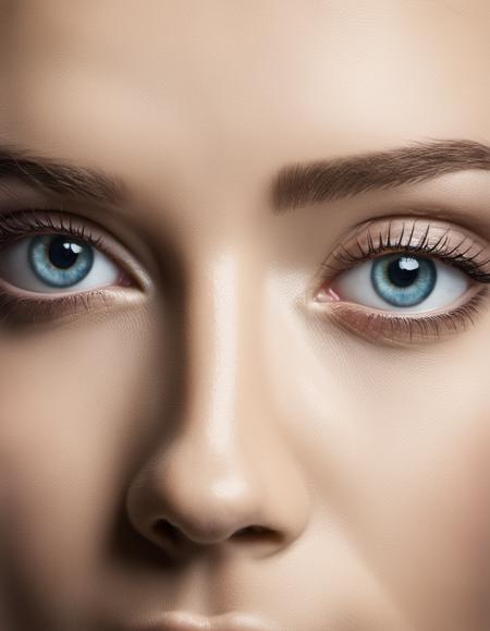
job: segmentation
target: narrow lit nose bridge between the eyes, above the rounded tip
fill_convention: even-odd
[[[240,269],[236,254],[221,252],[191,280],[186,422],[196,435],[206,433],[209,447],[220,457],[236,434],[237,406],[245,400],[252,367],[245,336],[256,330],[257,311],[243,303],[247,272]]]

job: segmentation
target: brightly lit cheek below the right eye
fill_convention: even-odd
[[[342,527],[338,539],[346,546],[332,546],[339,567],[365,570],[359,588],[350,572],[350,593],[376,585],[375,606],[391,603],[399,620],[420,631],[487,629],[486,338],[477,331],[475,344],[468,335],[461,348],[418,353],[382,353],[345,339],[347,352],[340,353],[328,335],[311,344],[320,362],[308,369],[302,363],[295,388],[282,391],[302,398],[296,408],[287,400],[287,410],[301,420],[297,444],[328,523]],[[324,547],[329,536],[326,529]],[[338,585],[334,558],[326,562]]]

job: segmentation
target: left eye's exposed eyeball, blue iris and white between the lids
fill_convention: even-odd
[[[95,245],[70,234],[36,234],[0,250],[0,277],[32,292],[85,291],[113,284],[121,274]]]

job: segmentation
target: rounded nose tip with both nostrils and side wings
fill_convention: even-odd
[[[210,546],[271,554],[297,536],[306,514],[298,480],[284,468],[273,478],[264,462],[246,466],[230,457],[199,466],[188,452],[175,451],[130,488],[130,521],[172,558]],[[290,495],[275,493],[277,484]]]

